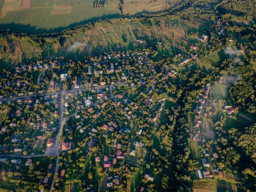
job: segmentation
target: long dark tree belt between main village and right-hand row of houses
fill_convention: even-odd
[[[189,142],[192,135],[189,131],[188,116],[192,111],[192,104],[199,98],[201,87],[207,82],[213,81],[213,76],[205,75],[200,71],[186,74],[186,81],[181,82],[181,87],[177,87],[177,106],[172,109],[177,123],[174,127],[172,157],[175,161],[175,179],[177,192],[192,192],[189,172]],[[170,191],[172,191],[170,189]]]

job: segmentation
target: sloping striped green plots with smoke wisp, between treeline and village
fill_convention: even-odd
[[[96,27],[96,29],[88,30],[83,35],[73,38],[67,38],[60,41],[60,44],[46,42],[43,45],[43,58],[70,56],[72,59],[84,58],[84,55],[102,54],[103,52],[128,50],[136,48],[145,48],[143,44],[136,43],[136,32],[141,28],[128,29],[129,23]],[[122,37],[124,34],[125,37]],[[70,47],[76,42],[82,46]],[[134,99],[136,95],[130,93],[127,95],[129,99]]]

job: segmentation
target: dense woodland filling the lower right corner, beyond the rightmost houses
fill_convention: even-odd
[[[215,144],[220,158],[218,158],[218,169],[221,169],[228,177],[239,177],[237,186],[239,191],[256,191],[256,125],[238,130],[227,129],[226,123],[230,117],[219,113],[212,124],[218,135],[217,143],[208,141],[207,146]]]

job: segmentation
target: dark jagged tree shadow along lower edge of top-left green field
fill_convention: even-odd
[[[20,33],[26,33],[28,35],[36,35],[36,34],[46,34],[46,33],[55,33],[55,32],[61,32],[64,29],[70,29],[76,26],[81,26],[90,22],[95,22],[98,20],[103,20],[103,19],[113,19],[113,18],[120,18],[119,14],[103,14],[101,17],[92,17],[90,19],[82,20],[80,22],[72,23],[68,26],[61,26],[61,27],[56,27],[56,28],[38,28],[37,26],[31,26],[31,25],[24,25],[20,23],[6,23],[2,24],[0,23],[0,29],[3,30],[10,30],[12,32],[20,32]],[[51,22],[49,20],[49,22]]]

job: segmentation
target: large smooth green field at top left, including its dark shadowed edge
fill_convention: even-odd
[[[119,17],[116,10],[118,1],[105,3],[102,9],[92,9],[92,3],[93,0],[58,0],[54,5],[53,0],[32,0],[28,10],[8,11],[5,17],[0,18],[0,28],[27,34],[42,34],[59,32],[99,19]],[[51,15],[52,7],[60,5],[72,5],[71,12]]]

